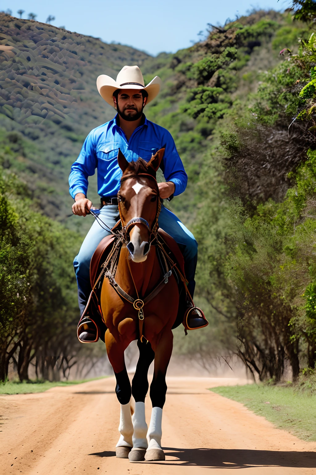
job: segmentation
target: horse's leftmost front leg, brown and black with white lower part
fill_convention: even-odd
[[[105,342],[107,346],[108,359],[114,370],[116,379],[115,392],[121,405],[118,431],[121,434],[116,445],[116,456],[118,458],[128,458],[128,454],[133,447],[133,423],[130,407],[132,395],[131,384],[125,366],[124,351],[125,345],[117,343],[111,333],[106,332]],[[117,371],[117,372],[116,372]]]

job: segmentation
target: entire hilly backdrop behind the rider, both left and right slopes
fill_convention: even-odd
[[[114,113],[100,98],[96,77],[115,77],[125,64],[138,64],[148,81],[156,74],[163,79],[163,89],[146,114],[166,126],[176,140],[190,186],[185,201],[172,204],[181,218],[190,222],[194,218],[190,206],[194,183],[217,122],[229,116],[234,101],[256,89],[260,70],[278,62],[278,50],[284,45],[282,28],[290,47],[298,28],[290,25],[287,15],[257,12],[224,29],[213,28],[206,41],[191,48],[153,58],[131,47],[107,45],[96,38],[1,13],[0,127],[9,151],[4,152],[4,166],[13,167],[27,181],[45,214],[65,221],[72,203],[67,186],[71,163],[87,133]],[[214,64],[209,63],[210,55]],[[224,73],[219,74],[221,71]],[[197,89],[204,85],[212,89],[206,111],[199,105]],[[10,134],[6,136],[5,131]],[[90,180],[90,197],[97,202],[94,178]],[[88,222],[70,217],[69,226],[74,225],[85,232]]]

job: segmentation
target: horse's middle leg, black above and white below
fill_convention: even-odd
[[[133,448],[129,453],[129,460],[139,462],[144,460],[147,444],[147,424],[145,419],[145,397],[148,391],[148,369],[155,356],[150,343],[138,340],[139,359],[132,381],[132,395],[135,399],[135,411],[132,416],[134,433]]]

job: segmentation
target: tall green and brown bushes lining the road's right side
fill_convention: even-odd
[[[244,110],[235,133],[222,132],[233,232],[224,230],[220,275],[236,309],[239,355],[260,380],[281,380],[287,363],[297,380],[301,365],[316,364],[314,38],[265,75],[253,116]],[[289,134],[293,115],[300,125]],[[276,185],[289,188],[285,196]],[[208,215],[204,206],[201,228]],[[214,259],[209,248],[206,258]]]

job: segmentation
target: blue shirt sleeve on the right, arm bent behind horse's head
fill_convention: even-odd
[[[187,187],[188,175],[186,174],[183,163],[177,152],[176,145],[171,133],[167,130],[164,134],[165,152],[163,155],[163,163],[161,166],[163,176],[166,181],[174,183],[174,196],[180,195]]]

